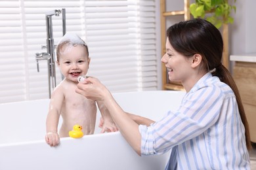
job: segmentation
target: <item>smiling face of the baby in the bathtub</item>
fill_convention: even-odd
[[[66,79],[77,82],[78,76],[86,75],[89,69],[90,58],[85,46],[65,46],[60,52],[58,67]]]

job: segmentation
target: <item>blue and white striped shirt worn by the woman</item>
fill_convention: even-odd
[[[172,149],[165,169],[250,169],[234,92],[211,73],[184,95],[179,109],[139,131],[142,156]]]

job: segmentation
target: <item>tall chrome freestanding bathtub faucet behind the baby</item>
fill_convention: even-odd
[[[54,39],[53,39],[53,22],[52,16],[60,16],[62,14],[62,32],[63,35],[66,33],[66,10],[51,10],[45,13],[46,19],[46,31],[47,39],[46,46],[47,52],[41,52],[35,54],[35,60],[37,62],[37,72],[39,72],[39,60],[47,60],[48,65],[48,84],[49,84],[49,98],[51,98],[51,90],[56,87],[56,73],[55,73],[55,58],[54,58]],[[63,76],[62,76],[63,79]]]

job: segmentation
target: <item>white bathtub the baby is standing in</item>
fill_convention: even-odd
[[[159,120],[177,109],[184,92],[152,91],[115,93],[127,112]],[[0,169],[164,169],[169,152],[159,156],[138,156],[119,132],[81,139],[60,139],[60,146],[45,143],[45,119],[49,99],[0,104]],[[97,113],[100,118],[100,114]]]

